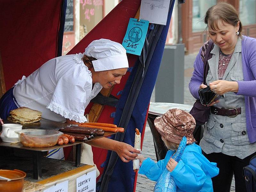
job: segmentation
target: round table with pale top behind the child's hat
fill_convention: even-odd
[[[165,147],[164,141],[161,139],[161,135],[156,130],[154,120],[156,119],[156,117],[162,116],[169,109],[179,108],[179,109],[189,112],[192,107],[193,106],[179,104],[179,103],[150,102],[147,122],[148,122],[150,131],[153,136],[157,161],[164,159],[168,149]]]

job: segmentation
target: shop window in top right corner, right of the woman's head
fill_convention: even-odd
[[[239,17],[243,25],[250,25],[256,23],[256,1],[240,0]]]

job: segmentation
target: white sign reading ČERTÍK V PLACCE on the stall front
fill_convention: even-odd
[[[96,170],[76,178],[76,192],[96,192]]]

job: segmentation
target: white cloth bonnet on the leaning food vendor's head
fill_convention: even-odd
[[[92,61],[94,71],[129,67],[126,50],[123,45],[109,39],[92,41],[92,43],[85,48],[83,54],[97,59]]]

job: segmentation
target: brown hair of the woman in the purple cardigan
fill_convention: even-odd
[[[223,20],[226,23],[236,27],[240,21],[235,7],[228,3],[218,3],[210,7],[204,16],[204,23],[212,29],[218,29],[218,20]],[[242,37],[242,23],[239,23],[239,36]]]

